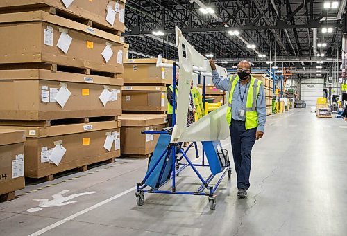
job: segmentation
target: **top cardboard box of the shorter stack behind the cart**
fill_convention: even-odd
[[[156,59],[130,59],[124,64],[122,77],[124,84],[172,84],[173,71],[171,68],[157,67]]]

